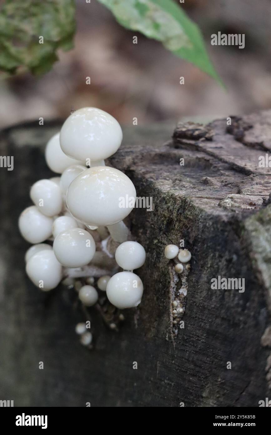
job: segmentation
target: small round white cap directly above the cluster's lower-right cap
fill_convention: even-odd
[[[143,266],[146,259],[146,252],[140,243],[127,241],[117,247],[115,258],[121,268],[132,271]]]

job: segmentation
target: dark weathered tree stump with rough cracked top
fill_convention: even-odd
[[[74,333],[82,318],[70,291],[43,294],[28,281],[17,230],[30,185],[52,176],[43,148],[59,127],[32,123],[1,135],[0,154],[14,156],[14,170],[0,170],[1,398],[14,406],[258,406],[271,387],[271,169],[258,165],[271,155],[271,111],[232,117],[231,126],[179,124],[173,139],[172,126],[124,131],[109,163],[154,204],[130,214],[147,251],[138,271],[145,290],[118,332],[90,311],[93,351]],[[164,257],[165,245],[182,239],[192,254],[187,283]],[[212,290],[218,275],[245,278],[245,291]],[[182,284],[179,328],[172,301]]]

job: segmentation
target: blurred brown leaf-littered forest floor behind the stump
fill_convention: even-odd
[[[180,6],[200,27],[226,91],[161,43],[125,30],[96,0],[76,3],[74,49],[58,52],[59,61],[43,76],[0,80],[1,128],[38,117],[65,118],[84,106],[106,110],[123,125],[133,117],[142,125],[271,107],[271,0],[185,0]],[[244,49],[211,46],[218,31],[244,33]]]

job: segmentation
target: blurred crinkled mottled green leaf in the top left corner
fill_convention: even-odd
[[[57,50],[73,46],[74,13],[74,0],[6,0],[0,9],[0,70],[50,70]]]

